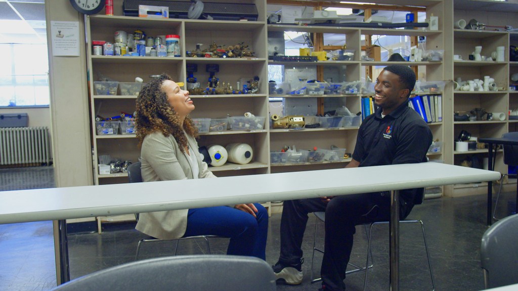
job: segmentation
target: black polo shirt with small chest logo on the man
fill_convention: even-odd
[[[382,108],[359,127],[353,158],[360,167],[426,161],[433,137],[428,124],[408,107],[408,100],[381,118]]]

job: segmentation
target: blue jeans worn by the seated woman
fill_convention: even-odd
[[[217,235],[230,238],[227,255],[254,256],[266,260],[268,212],[259,203],[255,214],[227,206],[189,209],[184,237]]]

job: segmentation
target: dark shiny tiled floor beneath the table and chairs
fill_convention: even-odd
[[[0,189],[18,190],[53,186],[51,167],[27,169],[0,169]],[[507,211],[514,193],[506,193],[500,203],[501,212]],[[484,287],[480,269],[480,238],[486,230],[485,195],[462,198],[425,200],[409,218],[423,220],[428,239],[436,290],[481,290]],[[275,264],[279,250],[280,215],[270,218],[267,261]],[[319,284],[310,284],[311,250],[314,216],[310,216],[303,249],[304,282],[298,286],[278,285],[278,290],[316,290]],[[137,242],[145,235],[131,224],[105,224],[102,235],[69,235],[70,275],[77,278],[90,272],[132,261]],[[321,229],[321,228],[320,228]],[[387,290],[388,227],[378,226],[373,233],[372,252],[375,266],[369,271],[369,290]],[[364,264],[366,256],[365,230],[357,228],[352,261]],[[319,238],[322,238],[320,232]],[[198,244],[199,243],[199,244]],[[318,240],[322,243],[322,239]],[[212,253],[224,253],[227,241],[212,239]],[[174,242],[147,244],[141,258],[168,255],[174,252]],[[178,254],[203,253],[201,242],[182,241]],[[421,231],[417,225],[401,225],[400,289],[429,290],[426,256]],[[321,255],[315,255],[315,275],[318,275]],[[48,290],[55,285],[52,224],[36,222],[0,225],[0,290]],[[348,290],[363,289],[363,273],[348,275]]]

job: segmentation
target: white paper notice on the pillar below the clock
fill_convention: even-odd
[[[53,56],[79,56],[79,22],[51,21]]]

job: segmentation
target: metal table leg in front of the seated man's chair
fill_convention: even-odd
[[[390,290],[399,290],[399,190],[391,191]]]

